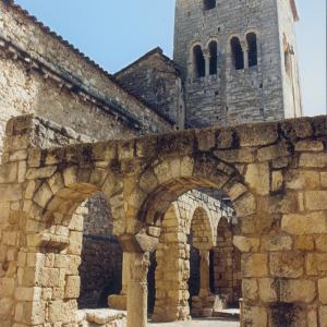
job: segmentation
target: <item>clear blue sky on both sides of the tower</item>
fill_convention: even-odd
[[[174,0],[16,0],[110,73],[160,46],[172,56]],[[305,116],[326,113],[326,0],[298,0]]]

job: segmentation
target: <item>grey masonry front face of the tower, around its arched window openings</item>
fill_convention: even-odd
[[[203,1],[178,0],[175,4],[174,61],[182,70],[186,92],[186,123],[191,126],[274,121],[290,113],[283,102],[279,28],[275,0],[223,0],[205,11]],[[287,8],[291,15],[290,7]],[[289,21],[289,25],[293,21]],[[279,26],[280,23],[280,26]],[[293,25],[290,26],[293,28]],[[290,29],[283,29],[291,33]],[[246,34],[257,36],[258,62],[247,65]],[[232,64],[230,40],[237,36],[244,52],[244,69]],[[292,35],[293,37],[293,35]],[[218,44],[218,71],[215,75],[194,78],[192,49],[199,45],[208,62],[208,44]],[[207,63],[208,65],[208,63]],[[284,94],[286,93],[286,94]],[[299,96],[296,94],[295,96]]]

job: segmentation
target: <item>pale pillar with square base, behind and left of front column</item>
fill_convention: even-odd
[[[131,280],[131,253],[123,252],[122,261],[122,289],[120,294],[108,296],[108,306],[110,308],[123,310],[128,308],[128,289]]]

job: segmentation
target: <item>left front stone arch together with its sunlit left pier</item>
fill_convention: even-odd
[[[50,171],[49,167],[45,169]],[[113,196],[120,193],[120,187],[105,169],[77,166],[51,169],[53,172],[48,178],[29,181],[31,190],[33,185],[36,190],[31,198],[27,185],[26,199],[31,203],[26,223],[27,251],[35,257],[34,271],[29,274],[31,278],[33,276],[34,290],[40,289],[52,294],[37,304],[45,307],[49,322],[71,324],[75,319],[81,286],[81,205],[90,196],[102,192],[109,204],[113,205],[112,211],[117,213],[121,204],[114,204]],[[117,220],[113,220],[113,232],[121,230]],[[35,227],[33,232],[31,227]],[[29,286],[32,287],[32,282]]]

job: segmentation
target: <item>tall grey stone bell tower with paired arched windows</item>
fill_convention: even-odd
[[[189,126],[302,116],[295,0],[177,0]]]

